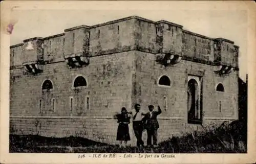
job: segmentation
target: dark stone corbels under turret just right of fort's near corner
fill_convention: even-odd
[[[176,54],[156,54],[156,61],[163,65],[177,64],[181,61],[182,57]]]

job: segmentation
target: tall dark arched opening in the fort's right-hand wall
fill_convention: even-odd
[[[187,121],[189,124],[202,123],[200,92],[200,85],[195,79],[191,78],[187,83]]]

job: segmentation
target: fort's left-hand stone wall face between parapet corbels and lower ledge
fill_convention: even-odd
[[[92,110],[73,111],[73,115],[108,115],[131,107],[131,52],[91,58],[88,66],[69,68],[65,62],[44,65],[44,72],[38,75],[24,75],[23,69],[11,71],[11,115],[38,115],[38,102],[42,98],[41,85],[46,79],[53,82],[52,98],[56,100],[56,111],[45,115],[70,115],[69,99],[90,97]],[[87,87],[76,90],[72,87],[75,77],[84,76]],[[117,89],[118,88],[118,89]],[[85,105],[75,104],[85,111]],[[78,110],[78,109],[77,109]],[[80,113],[80,114],[79,114]]]

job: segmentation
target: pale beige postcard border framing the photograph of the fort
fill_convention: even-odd
[[[5,27],[13,20],[12,10],[246,10],[248,12],[248,153],[247,154],[175,154],[175,158],[86,158],[78,154],[9,153],[9,46]],[[255,162],[255,3],[248,1],[4,1],[1,2],[1,163],[252,163]],[[172,14],[172,12],[170,12]]]

